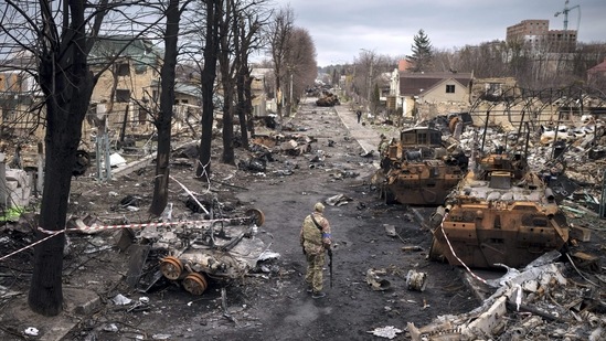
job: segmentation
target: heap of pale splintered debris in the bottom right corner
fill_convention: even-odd
[[[604,340],[606,302],[602,284],[581,284],[566,277],[562,263],[510,269],[481,307],[459,316],[439,316],[417,328],[414,341],[430,340]]]

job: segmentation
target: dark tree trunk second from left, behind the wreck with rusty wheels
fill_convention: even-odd
[[[153,180],[153,198],[149,213],[158,216],[167,206],[168,202],[168,182],[169,182],[169,160],[170,160],[170,139],[172,122],[172,106],[174,104],[174,68],[177,66],[179,41],[179,0],[170,0],[167,8],[167,32],[164,34],[164,61],[161,77],[160,93],[160,113],[156,119],[158,129],[158,156],[156,158],[156,178]]]

